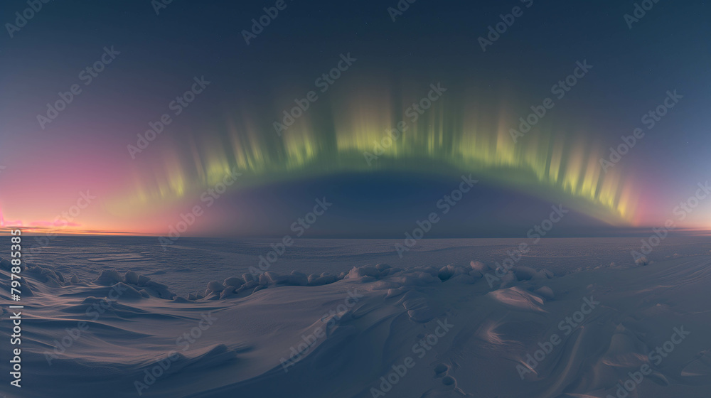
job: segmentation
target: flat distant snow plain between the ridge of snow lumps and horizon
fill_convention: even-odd
[[[410,251],[398,256],[396,244],[404,240],[294,240],[291,247],[269,263],[269,271],[289,274],[298,270],[306,274],[331,272],[340,274],[353,267],[390,264],[391,267],[444,267],[469,264],[471,260],[486,264],[503,263],[508,252],[519,244],[528,244],[528,252],[519,265],[545,268],[558,274],[575,269],[633,264],[631,250],[639,250],[641,238],[570,238],[570,239],[447,239],[419,240]],[[31,263],[53,267],[65,274],[76,274],[82,281],[92,281],[105,269],[119,273],[136,271],[150,276],[184,296],[205,291],[213,280],[223,281],[240,276],[249,267],[259,267],[260,256],[266,258],[272,244],[279,239],[213,240],[181,238],[164,250],[154,237],[55,237],[46,246],[28,238],[26,254]],[[678,256],[711,254],[711,237],[667,237],[648,255],[653,261]],[[2,254],[0,254],[2,255]]]

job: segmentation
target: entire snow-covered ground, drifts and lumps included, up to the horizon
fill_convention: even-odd
[[[711,397],[705,237],[275,242],[53,239],[0,396]]]

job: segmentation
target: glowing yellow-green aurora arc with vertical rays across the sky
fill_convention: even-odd
[[[604,172],[604,151],[586,134],[571,133],[548,117],[515,143],[509,129],[518,116],[512,112],[500,110],[492,119],[474,102],[445,97],[415,112],[414,120],[412,103],[419,101],[410,97],[415,101],[404,95],[395,100],[390,90],[356,90],[331,99],[325,112],[303,112],[281,136],[269,128],[281,120],[269,120],[267,127],[242,113],[228,118],[223,134],[161,137],[163,142],[152,144],[160,146],[159,154],[136,168],[129,186],[107,203],[109,212],[165,208],[199,195],[233,170],[242,173],[233,185],[237,190],[336,173],[458,172],[565,202],[611,225],[634,225],[629,177],[620,167]],[[283,117],[283,111],[270,115]],[[397,127],[402,133],[388,132]]]

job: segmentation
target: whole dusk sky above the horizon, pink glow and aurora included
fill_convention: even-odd
[[[186,235],[278,236],[327,198],[310,237],[525,236],[559,204],[551,236],[710,229],[677,208],[711,170],[704,1],[38,4],[0,12],[5,226],[166,235],[199,206]]]

